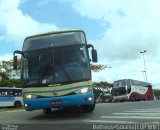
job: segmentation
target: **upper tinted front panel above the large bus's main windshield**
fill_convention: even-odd
[[[84,31],[55,31],[27,37],[23,43],[23,51],[76,44],[87,44]]]

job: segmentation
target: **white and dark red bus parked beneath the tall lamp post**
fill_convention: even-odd
[[[111,90],[113,102],[154,100],[151,83],[133,79],[122,79],[114,81]]]

